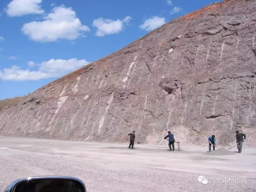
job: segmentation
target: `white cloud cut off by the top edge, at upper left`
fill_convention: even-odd
[[[22,16],[27,14],[42,14],[42,0],[12,0],[5,8],[8,16]]]

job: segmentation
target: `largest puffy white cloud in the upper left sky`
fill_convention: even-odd
[[[90,31],[88,26],[82,25],[76,17],[76,12],[64,5],[53,8],[52,12],[44,17],[44,21],[33,21],[22,26],[24,34],[39,42],[74,40],[83,36],[85,31]]]

